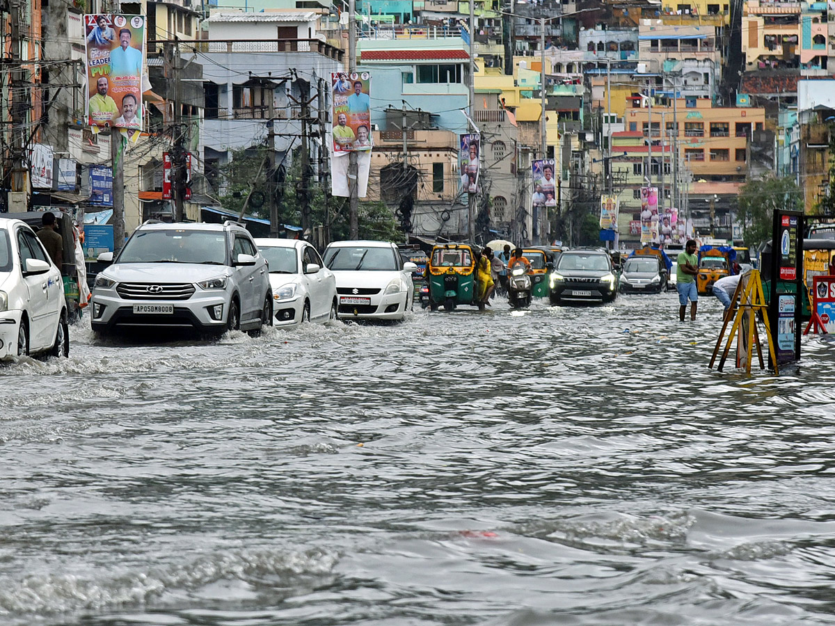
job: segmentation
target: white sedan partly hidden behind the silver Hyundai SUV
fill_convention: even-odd
[[[256,239],[270,268],[275,326],[337,318],[337,280],[316,248],[295,239]]]

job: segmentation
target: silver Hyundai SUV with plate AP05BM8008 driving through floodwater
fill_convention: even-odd
[[[266,260],[237,222],[149,220],[96,276],[90,309],[98,333],[115,326],[258,331],[271,325],[272,290]]]

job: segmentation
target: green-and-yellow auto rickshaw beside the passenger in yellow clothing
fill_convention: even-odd
[[[429,308],[453,310],[456,305],[475,305],[483,309],[483,303],[475,298],[475,257],[467,244],[438,244],[432,249],[426,265],[429,284]]]

